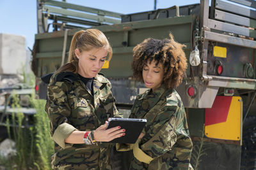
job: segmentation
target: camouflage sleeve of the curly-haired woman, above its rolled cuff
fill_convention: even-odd
[[[177,141],[175,111],[177,106],[166,106],[157,114],[153,127],[154,136],[140,145],[141,150],[152,158],[159,157],[172,149]]]

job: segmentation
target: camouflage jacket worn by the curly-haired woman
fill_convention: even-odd
[[[193,169],[190,165],[193,143],[189,138],[186,112],[175,90],[163,86],[155,92],[147,90],[137,96],[131,110],[131,118],[147,118],[130,169]],[[137,155],[136,155],[137,154]],[[141,162],[143,158],[150,162]],[[141,160],[138,160],[141,159]]]

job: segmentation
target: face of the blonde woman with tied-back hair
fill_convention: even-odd
[[[108,51],[104,48],[92,48],[92,50],[83,52],[79,52],[76,48],[75,53],[78,57],[78,73],[85,78],[95,77],[108,55]]]

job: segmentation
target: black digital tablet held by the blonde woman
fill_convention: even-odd
[[[109,141],[111,143],[135,143],[140,136],[141,131],[147,124],[144,118],[109,118],[108,127],[119,126],[125,129],[125,136]]]

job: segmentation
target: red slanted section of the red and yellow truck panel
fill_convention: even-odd
[[[231,100],[231,96],[216,96],[212,108],[205,109],[205,125],[226,122]]]

